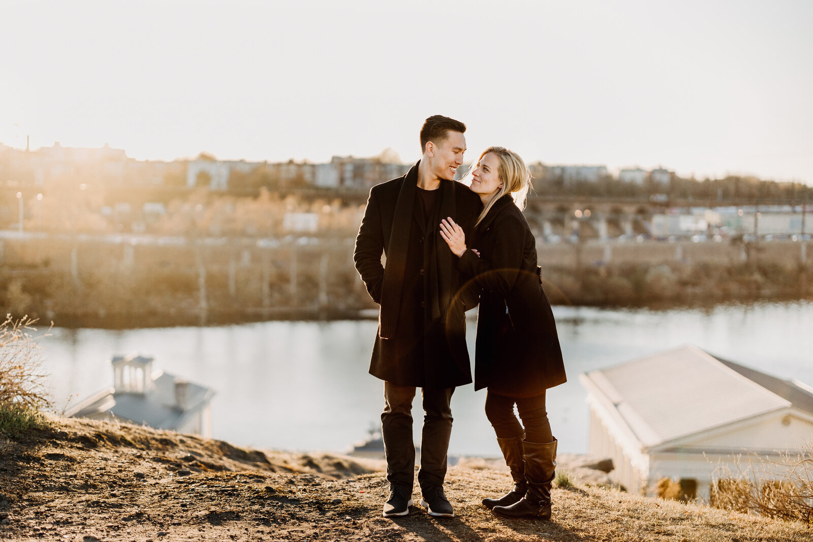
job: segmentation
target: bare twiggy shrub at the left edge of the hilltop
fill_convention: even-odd
[[[50,407],[40,346],[30,332],[36,320],[7,314],[0,323],[0,431],[18,432],[44,423]]]

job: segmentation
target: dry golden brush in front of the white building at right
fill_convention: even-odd
[[[718,466],[709,496],[716,508],[813,524],[813,439],[798,454],[748,453],[733,468]]]

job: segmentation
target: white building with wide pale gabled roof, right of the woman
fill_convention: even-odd
[[[708,498],[719,464],[746,451],[795,453],[813,435],[813,388],[715,358],[692,345],[579,375],[589,453],[612,457],[616,483],[652,494],[680,480]]]

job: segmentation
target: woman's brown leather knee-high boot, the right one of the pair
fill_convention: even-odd
[[[495,506],[507,518],[550,519],[550,488],[556,477],[557,440],[544,444],[523,440],[528,492],[511,506]]]

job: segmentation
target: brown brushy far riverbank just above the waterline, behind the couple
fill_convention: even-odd
[[[4,241],[0,310],[59,327],[206,326],[364,319],[377,306],[350,260],[351,240],[261,246],[71,245]],[[813,300],[806,244],[540,245],[555,305],[709,308]]]

